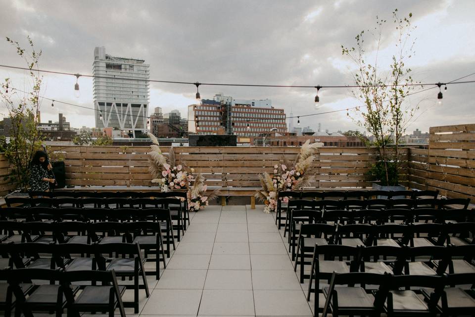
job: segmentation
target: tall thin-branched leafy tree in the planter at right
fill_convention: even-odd
[[[376,47],[376,57],[371,63],[368,62],[369,56],[365,51],[364,31],[355,37],[356,48],[341,46],[341,53],[357,65],[357,70],[353,73],[355,85],[363,86],[352,91],[353,96],[365,105],[356,108],[356,117],[352,119],[375,138],[374,142],[367,142],[368,146],[377,148],[379,155],[379,161],[371,169],[372,175],[391,186],[397,185],[398,181],[397,171],[401,164],[398,156],[400,140],[410,118],[418,109],[418,106],[408,106],[406,103],[406,97],[417,88],[409,85],[418,84],[410,75],[411,68],[406,66],[407,60],[414,54],[415,42],[411,39],[411,33],[416,27],[411,25],[411,13],[403,19],[398,18],[397,9],[392,14],[397,36],[397,53],[392,56],[388,71],[381,69],[378,63],[382,27],[386,20],[377,17],[375,29],[369,32],[375,39]],[[381,167],[384,173],[380,172]]]

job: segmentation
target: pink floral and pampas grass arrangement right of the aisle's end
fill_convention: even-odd
[[[266,205],[264,212],[269,213],[277,209],[279,192],[297,190],[310,184],[310,175],[306,174],[306,171],[315,159],[313,154],[322,145],[320,142],[310,144],[310,140],[307,140],[294,161],[283,157],[279,164],[274,165],[272,176],[269,173],[259,176],[262,189],[257,191],[255,196]]]

